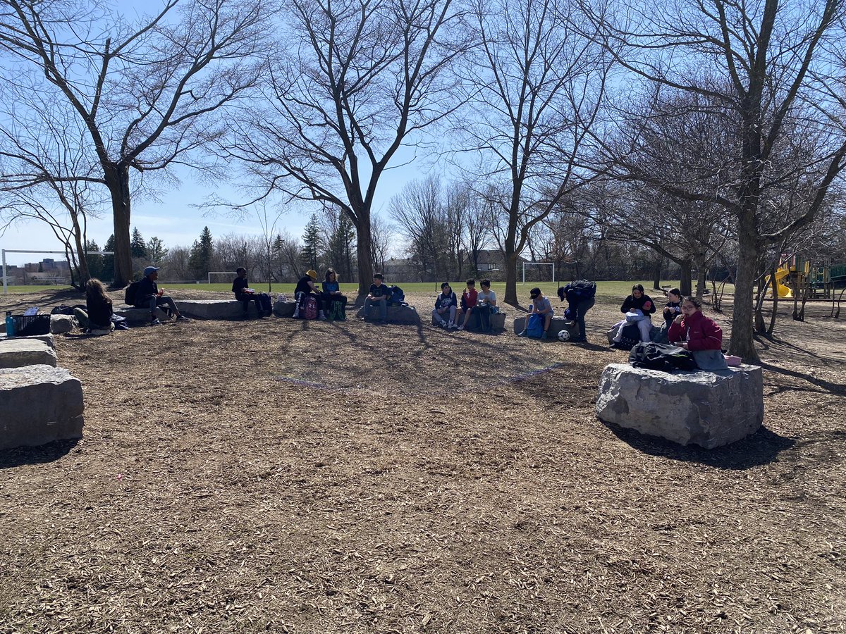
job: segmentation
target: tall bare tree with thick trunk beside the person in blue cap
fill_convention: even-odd
[[[132,276],[130,171],[143,177],[189,161],[221,134],[207,115],[254,85],[250,56],[266,31],[263,17],[261,0],[168,0],[137,24],[89,0],[0,3],[0,48],[13,56],[19,94],[63,101],[85,129],[90,163],[54,176],[107,188],[115,286]]]

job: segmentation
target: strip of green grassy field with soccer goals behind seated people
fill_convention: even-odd
[[[392,283],[392,282],[388,282]],[[406,293],[412,292],[431,292],[433,295],[441,290],[441,284],[439,282],[431,282],[431,281],[413,281],[413,282],[396,282],[399,287],[402,287],[403,291]],[[464,281],[453,281],[450,282],[453,291],[455,292],[462,292],[464,290]],[[527,281],[525,284],[517,283],[517,295],[520,299],[528,298],[529,297],[529,290],[532,287],[540,287],[541,292],[544,295],[548,295],[552,298],[555,297],[555,293],[558,290],[558,287],[561,286],[565,282],[552,282],[552,281]],[[624,298],[629,295],[631,292],[632,285],[636,283],[634,281],[598,281],[596,282],[596,292],[600,297],[604,298]],[[646,289],[647,294],[650,292],[652,287],[651,281],[640,281],[640,284],[643,284],[643,287]],[[670,280],[670,281],[662,281],[662,285],[670,285],[670,286],[678,286],[678,280]],[[167,280],[160,281],[159,287],[164,288],[166,290],[176,290],[180,288],[190,288],[198,291],[214,291],[214,292],[231,292],[232,291],[232,284],[230,282],[223,282],[219,284],[191,284],[191,283],[169,283]],[[268,292],[268,288],[266,284],[253,284],[253,287],[256,291],[261,292]],[[478,281],[476,282],[476,288],[479,288]],[[71,287],[61,287],[61,286],[14,286],[8,287],[9,293],[28,293],[28,292],[47,292],[47,291],[57,291],[57,290],[73,290]],[[349,284],[341,284],[341,290],[345,292],[347,295],[354,295],[356,290],[358,289],[358,285],[354,283]],[[505,282],[494,282],[492,284],[492,289],[494,292],[497,293],[499,297],[502,297],[505,292]],[[294,292],[294,284],[279,284],[274,283],[272,284],[271,291],[274,295],[277,293],[285,292],[290,294]],[[726,292],[733,292],[733,287],[727,286]]]

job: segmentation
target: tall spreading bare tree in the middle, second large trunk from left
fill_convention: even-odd
[[[268,63],[266,104],[240,118],[229,156],[260,187],[333,205],[353,222],[359,293],[373,273],[372,206],[403,145],[455,107],[452,0],[294,0]],[[261,195],[261,194],[260,194]]]

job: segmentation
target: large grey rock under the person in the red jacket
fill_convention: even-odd
[[[596,416],[679,445],[728,445],[763,423],[763,374],[754,365],[669,374],[612,363],[599,380]]]

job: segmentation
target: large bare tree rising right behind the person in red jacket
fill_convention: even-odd
[[[734,217],[739,261],[729,350],[754,361],[752,294],[763,249],[813,221],[846,158],[843,129],[828,118],[843,102],[825,91],[825,78],[838,64],[832,50],[843,41],[843,2],[620,5],[616,16],[592,15],[618,63],[647,82],[703,96],[725,113],[733,161],[724,172],[682,182],[626,172],[684,199],[716,203]],[[632,89],[627,82],[627,93]],[[814,137],[819,151],[810,163],[787,167],[776,159],[796,130]],[[784,202],[787,172],[793,174],[788,180],[804,183],[800,204],[766,213]]]

